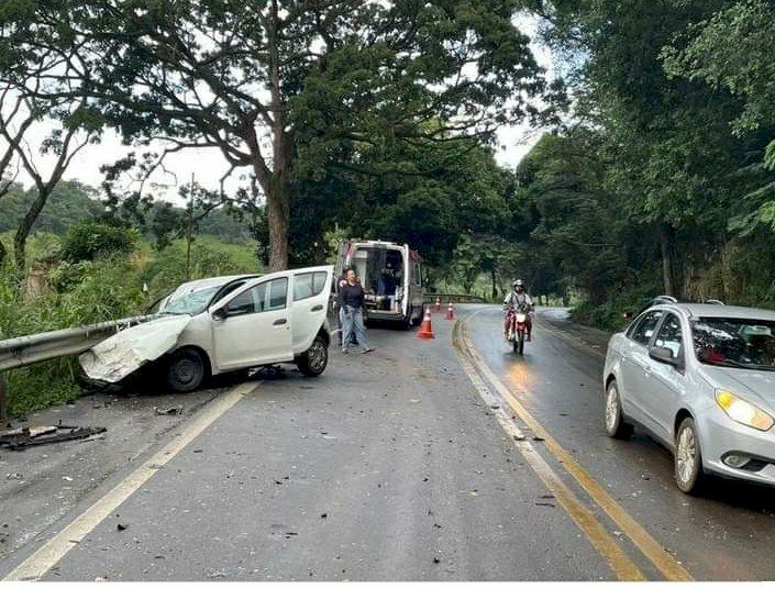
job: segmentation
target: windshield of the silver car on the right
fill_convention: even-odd
[[[691,332],[697,359],[713,366],[775,370],[775,322],[700,318]]]

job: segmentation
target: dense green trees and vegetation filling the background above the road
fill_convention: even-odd
[[[412,244],[438,287],[522,277],[605,327],[657,293],[775,307],[773,22],[771,0],[3,2],[0,327],[135,312],[139,282],[320,263],[345,236]],[[516,124],[541,138],[501,167]],[[64,181],[106,130],[126,157]],[[245,181],[154,199],[193,147]]]

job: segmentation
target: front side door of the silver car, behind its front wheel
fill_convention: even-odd
[[[675,313],[666,313],[650,347],[669,349],[673,358],[683,359],[685,354],[684,326]],[[678,400],[686,391],[686,376],[682,369],[649,358],[643,402],[645,411],[653,416],[654,433],[669,443],[673,418]]]

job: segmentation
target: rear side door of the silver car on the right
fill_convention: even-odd
[[[634,324],[632,332],[627,335],[621,356],[620,387],[624,401],[624,410],[633,419],[646,427],[651,426],[651,419],[644,404],[646,387],[646,370],[650,369],[649,343],[656,330],[664,311],[656,309],[649,311]]]

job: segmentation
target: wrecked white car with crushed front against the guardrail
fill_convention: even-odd
[[[81,367],[91,381],[114,384],[158,363],[180,392],[208,376],[280,363],[319,376],[329,360],[332,281],[333,266],[318,266],[186,282],[157,303],[155,319],[84,353]]]

